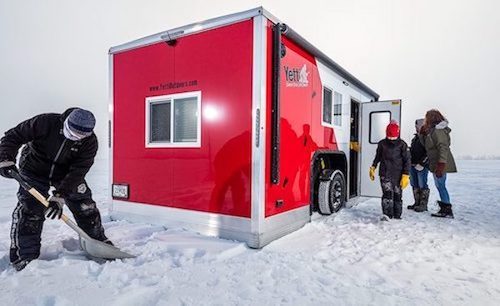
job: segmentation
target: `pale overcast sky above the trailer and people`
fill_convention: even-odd
[[[455,155],[500,155],[500,1],[0,0],[0,133],[80,106],[107,156],[108,50],[264,6],[384,99],[402,99],[402,137],[431,108]]]

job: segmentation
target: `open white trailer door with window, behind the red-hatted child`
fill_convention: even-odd
[[[377,150],[377,143],[385,138],[385,129],[394,119],[401,123],[401,100],[361,103],[361,169],[360,195],[381,197],[382,189],[378,178],[371,181],[368,170],[372,165]]]

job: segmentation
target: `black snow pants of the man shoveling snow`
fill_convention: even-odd
[[[49,182],[27,175],[23,178],[45,197],[48,197]],[[32,260],[40,255],[40,242],[45,221],[45,206],[38,202],[22,187],[17,193],[18,203],[12,213],[12,227],[10,232],[10,261]],[[104,241],[104,228],[101,215],[96,203],[92,199],[92,191],[86,182],[72,191],[66,198],[66,205],[73,213],[78,226],[90,237]]]

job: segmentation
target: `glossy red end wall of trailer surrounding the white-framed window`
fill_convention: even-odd
[[[250,20],[114,55],[113,181],[128,201],[250,217],[252,42]],[[146,148],[146,97],[198,90],[201,148]]]

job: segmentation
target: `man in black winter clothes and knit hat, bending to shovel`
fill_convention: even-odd
[[[112,245],[104,234],[101,215],[85,181],[98,147],[94,126],[90,111],[70,108],[63,114],[41,114],[21,122],[0,140],[0,175],[13,178],[13,174],[19,173],[45,198],[50,187],[55,188],[47,199],[48,208],[19,188],[10,246],[10,262],[16,270],[38,258],[45,215],[61,218],[65,205],[85,233]],[[18,170],[16,156],[22,145],[25,146]]]

